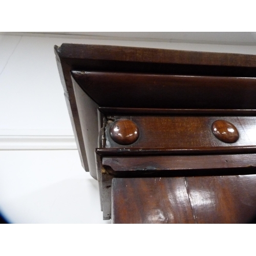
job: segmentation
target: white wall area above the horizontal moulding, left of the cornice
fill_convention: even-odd
[[[31,39],[20,40],[0,76],[0,129],[67,129],[72,135],[53,44]]]

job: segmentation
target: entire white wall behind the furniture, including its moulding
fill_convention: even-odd
[[[143,34],[119,40],[102,37],[110,34],[98,39],[84,34],[25,35],[0,34],[0,210],[12,223],[111,223],[102,220],[97,181],[80,165],[54,45],[71,42],[256,54],[254,34],[247,39],[239,33],[220,38],[225,45],[216,40],[206,44],[209,38],[212,43],[212,35],[205,40],[200,35],[204,44],[164,36],[141,39]]]

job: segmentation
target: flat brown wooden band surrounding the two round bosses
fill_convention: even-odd
[[[140,136],[125,147],[211,147],[256,145],[256,117],[180,117],[180,116],[123,116],[115,120],[130,119],[138,126]],[[240,138],[235,143],[217,139],[211,130],[214,121],[223,119],[235,125]],[[106,147],[123,147],[109,134],[111,123],[106,125]]]

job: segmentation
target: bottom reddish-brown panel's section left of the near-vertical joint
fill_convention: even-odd
[[[184,178],[113,179],[113,223],[194,223]]]

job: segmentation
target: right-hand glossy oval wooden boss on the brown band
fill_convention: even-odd
[[[234,143],[239,139],[239,132],[232,123],[226,120],[217,120],[211,125],[215,137],[225,143]]]

